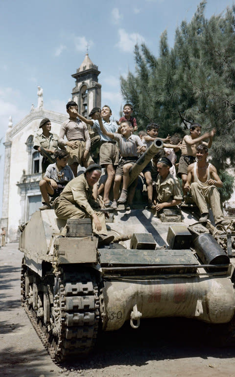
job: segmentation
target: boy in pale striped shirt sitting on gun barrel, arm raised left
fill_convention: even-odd
[[[145,146],[141,141],[140,137],[132,134],[132,124],[131,122],[124,121],[120,125],[120,134],[107,132],[104,128],[101,117],[99,118],[100,129],[104,135],[111,137],[118,142],[119,150],[121,153],[121,159],[118,163],[118,168],[116,170],[115,180],[114,180],[114,201],[111,208],[117,209],[118,203],[126,203],[128,196],[128,184],[129,184],[129,170],[132,165],[138,160],[138,154],[145,151]],[[119,196],[120,184],[123,179],[123,186],[121,190],[121,195]],[[129,204],[131,205],[133,197],[129,198]]]

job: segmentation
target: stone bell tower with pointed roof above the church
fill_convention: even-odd
[[[74,77],[75,87],[72,89],[72,100],[78,105],[78,112],[88,117],[91,109],[101,107],[101,85],[98,83],[98,66],[94,65],[86,54]]]

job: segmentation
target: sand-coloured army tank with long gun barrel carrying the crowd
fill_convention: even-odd
[[[162,142],[133,166],[131,181]],[[22,302],[52,359],[88,355],[103,331],[142,319],[185,317],[234,336],[234,234],[198,223],[197,209],[119,208],[107,228],[115,235],[97,247],[89,218],[60,220],[35,212],[22,227]]]

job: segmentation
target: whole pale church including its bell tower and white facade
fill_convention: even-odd
[[[72,100],[78,103],[79,111],[85,116],[93,107],[101,105],[101,85],[98,83],[98,67],[88,54],[77,72],[72,75],[76,86],[72,89]],[[19,239],[18,226],[29,220],[41,206],[39,181],[42,177],[42,156],[33,148],[33,139],[42,132],[39,124],[43,118],[51,121],[51,132],[59,134],[61,124],[67,115],[45,110],[43,89],[38,87],[38,104],[15,126],[9,118],[5,135],[4,177],[2,196],[2,217],[0,227],[7,230],[7,240]],[[65,104],[66,105],[66,104]],[[63,108],[65,111],[65,108]]]

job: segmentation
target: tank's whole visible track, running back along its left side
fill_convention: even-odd
[[[51,283],[51,275],[48,280],[40,279],[37,286],[43,284],[45,291],[48,292],[50,287],[53,292],[53,304],[50,304],[47,323],[42,315],[38,316],[37,308],[33,309],[32,303],[25,297],[25,272],[26,267],[23,265],[23,306],[51,358],[64,361],[88,354],[94,348],[99,326],[98,288],[91,272],[61,270],[54,275],[52,287],[48,285],[49,281]],[[33,272],[30,273],[36,276]],[[39,279],[38,276],[36,278]]]

